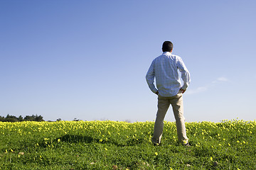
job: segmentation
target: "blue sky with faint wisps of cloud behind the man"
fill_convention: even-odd
[[[145,75],[170,40],[191,73],[187,122],[255,120],[255,9],[254,0],[0,1],[0,115],[153,121]]]

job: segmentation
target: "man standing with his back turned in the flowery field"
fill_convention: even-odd
[[[181,57],[171,54],[173,47],[170,41],[165,41],[162,46],[163,54],[153,60],[149,71],[146,73],[146,82],[149,85],[149,89],[158,95],[158,111],[156,113],[152,142],[154,145],[160,144],[164,128],[164,117],[171,104],[176,120],[178,141],[183,145],[189,146],[185,118],[183,117],[182,95],[190,83],[190,74]],[[183,86],[181,86],[181,80],[178,77],[178,70],[181,72]],[[156,87],[154,86],[154,78],[156,78]]]

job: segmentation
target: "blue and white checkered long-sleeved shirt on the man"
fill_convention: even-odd
[[[178,70],[181,72],[181,80],[178,77]],[[156,77],[156,87],[154,86],[154,78]],[[149,89],[156,93],[159,91],[160,96],[175,96],[179,89],[186,90],[190,83],[190,74],[181,57],[171,55],[171,52],[163,52],[162,55],[156,57],[146,73],[146,82]]]

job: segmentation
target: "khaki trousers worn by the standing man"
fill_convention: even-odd
[[[161,136],[164,129],[164,117],[170,104],[173,108],[174,117],[176,120],[178,141],[182,143],[188,142],[188,137],[186,136],[185,118],[183,116],[183,98],[181,91],[178,91],[176,96],[158,97],[158,111],[156,113],[156,121],[154,125],[154,136],[152,137],[152,142],[155,144],[160,144],[161,142]]]

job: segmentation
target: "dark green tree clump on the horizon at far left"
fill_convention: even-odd
[[[22,122],[22,121],[36,121],[43,122],[41,115],[26,115],[24,118],[20,115],[18,118],[15,115],[6,115],[6,118],[0,115],[0,122]]]

